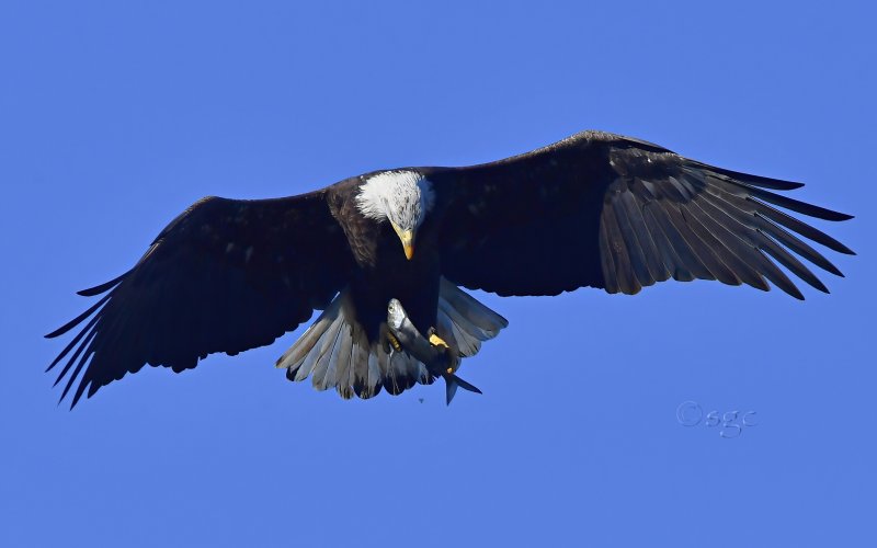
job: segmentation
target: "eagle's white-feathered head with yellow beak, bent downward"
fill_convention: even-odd
[[[414,238],[426,213],[435,202],[435,193],[426,178],[417,171],[384,171],[369,176],[356,195],[356,208],[378,222],[389,220],[405,255],[414,256]]]

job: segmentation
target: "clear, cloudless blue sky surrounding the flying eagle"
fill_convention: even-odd
[[[874,12],[830,2],[0,4],[0,545],[877,546]],[[468,164],[584,128],[808,185],[846,278],[479,295],[464,377],[342,401],[296,339],[73,412],[42,335],[195,199]],[[423,402],[419,401],[423,398]],[[737,438],[676,408],[755,411]]]

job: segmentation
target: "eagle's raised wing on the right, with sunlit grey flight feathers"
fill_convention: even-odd
[[[500,295],[557,295],[582,286],[636,294],[670,277],[767,290],[766,278],[802,299],[774,261],[822,292],[825,286],[789,251],[842,274],[796,233],[853,253],[768,205],[851,218],[766,190],[800,183],[715,168],[605,133],[426,173],[446,207],[443,274]]]

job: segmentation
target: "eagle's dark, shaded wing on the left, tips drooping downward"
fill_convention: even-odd
[[[83,324],[66,357],[61,399],[145,364],[174,372],[214,352],[270,344],[324,308],[352,264],[324,191],[280,199],[207,197],[161,231],[127,273],[79,292],[103,297],[48,338]],[[84,373],[80,377],[80,373]]]

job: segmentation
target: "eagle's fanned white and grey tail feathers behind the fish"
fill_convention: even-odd
[[[342,398],[371,398],[381,388],[397,395],[415,384],[435,380],[426,366],[405,350],[368,341],[365,330],[349,318],[348,290],[323,310],[317,321],[277,359],[289,380],[311,377],[318,390],[335,388]],[[456,285],[442,278],[436,332],[464,357],[475,355],[509,322]]]

